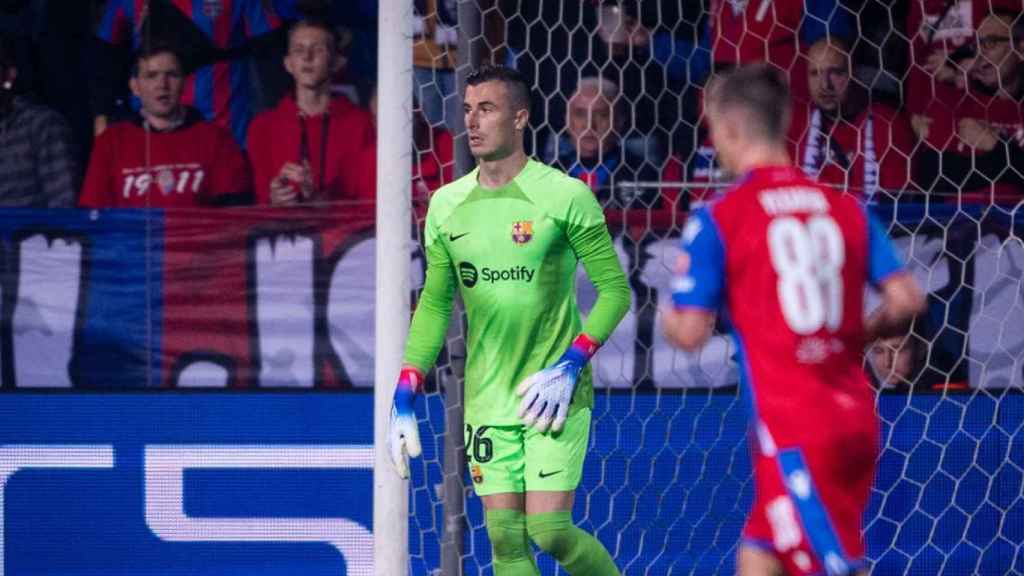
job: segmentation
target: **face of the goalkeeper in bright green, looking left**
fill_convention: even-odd
[[[469,151],[481,160],[500,160],[522,148],[528,111],[514,110],[509,90],[496,80],[466,86],[463,112]]]

